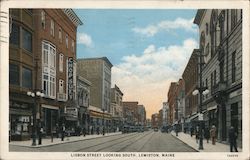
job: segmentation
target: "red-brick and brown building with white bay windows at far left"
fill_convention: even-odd
[[[10,18],[11,137],[30,137],[36,125],[49,135],[76,98],[76,31],[82,22],[71,9],[11,9]]]

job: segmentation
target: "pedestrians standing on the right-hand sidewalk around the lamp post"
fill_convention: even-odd
[[[202,133],[200,133],[202,132]],[[196,143],[199,142],[200,135],[203,135],[204,138],[207,140],[207,143],[209,143],[209,139],[211,139],[212,144],[216,144],[216,135],[217,135],[217,129],[215,125],[212,125],[211,129],[209,130],[207,127],[203,130],[200,130],[199,126],[196,126],[195,132],[194,128],[192,127],[190,130],[191,137],[195,134]],[[235,152],[238,152],[237,150],[237,131],[234,129],[233,126],[230,127],[228,132],[228,138],[230,143],[230,152],[233,152],[233,149]]]

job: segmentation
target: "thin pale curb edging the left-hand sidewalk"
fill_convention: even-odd
[[[121,133],[122,134],[122,133]],[[99,136],[99,137],[92,137],[92,138],[86,138],[86,139],[79,139],[79,140],[72,140],[72,141],[60,141],[62,143],[52,143],[52,144],[46,144],[46,145],[42,145],[42,146],[24,146],[24,145],[18,145],[18,144],[9,144],[12,146],[18,146],[18,147],[27,147],[27,148],[43,148],[43,147],[48,147],[48,146],[55,146],[55,145],[59,145],[59,144],[65,144],[65,143],[73,143],[76,141],[85,141],[85,140],[90,140],[90,139],[94,139],[94,138],[103,138],[103,137],[110,137],[110,136],[116,136],[116,135],[121,135],[121,134],[114,134],[114,135],[104,135],[104,136]]]

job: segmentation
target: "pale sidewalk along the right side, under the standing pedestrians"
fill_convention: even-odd
[[[230,146],[227,144],[222,144],[219,142],[216,142],[216,145],[212,145],[212,141],[209,140],[209,143],[207,143],[207,140],[203,139],[203,150],[199,150],[199,143],[196,143],[195,136],[191,137],[190,134],[185,134],[183,132],[179,132],[178,136],[176,136],[175,132],[171,132],[172,136],[178,138],[185,144],[189,145],[193,149],[199,151],[199,152],[230,152]],[[242,152],[241,148],[237,148],[239,152]]]

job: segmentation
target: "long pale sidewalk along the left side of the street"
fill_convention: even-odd
[[[31,147],[31,148],[39,148],[39,147],[45,147],[45,146],[53,146],[57,144],[62,144],[62,143],[70,143],[70,142],[75,142],[75,141],[83,141],[86,139],[93,139],[93,138],[101,138],[101,137],[108,137],[108,136],[113,136],[113,135],[119,135],[122,134],[121,132],[114,132],[114,133],[106,133],[104,136],[102,134],[99,135],[86,135],[85,137],[83,135],[81,136],[71,136],[71,137],[64,137],[64,141],[61,141],[61,138],[53,138],[53,142],[51,141],[51,138],[43,138],[42,139],[42,144],[38,145],[38,139],[36,140],[36,146],[32,146],[32,139],[28,141],[11,141],[9,142],[10,145],[15,145],[15,146],[24,146],[24,147]]]

